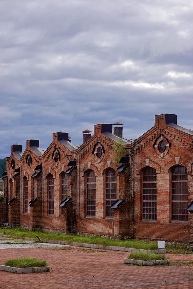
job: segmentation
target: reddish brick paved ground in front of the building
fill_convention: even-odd
[[[0,263],[6,259],[36,257],[46,260],[51,272],[13,274],[0,272],[0,288],[3,289],[122,289],[122,288],[193,288],[193,266],[134,266],[123,263],[125,252],[92,250],[71,247],[20,248],[0,250]],[[193,260],[192,255],[166,254],[175,261]]]

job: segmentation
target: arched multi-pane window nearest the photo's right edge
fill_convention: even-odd
[[[172,169],[172,221],[188,221],[188,176],[184,166]]]

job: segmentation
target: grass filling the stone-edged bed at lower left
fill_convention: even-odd
[[[48,266],[46,261],[40,261],[35,258],[21,258],[12,259],[5,262],[5,266],[28,268],[28,267],[46,267]]]

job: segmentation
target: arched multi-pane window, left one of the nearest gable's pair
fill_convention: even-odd
[[[157,220],[156,170],[149,166],[143,171],[143,219]]]

